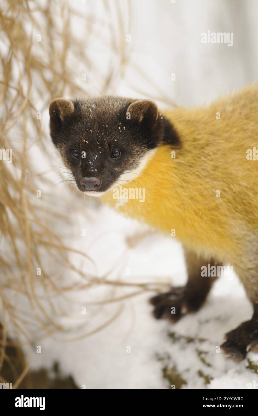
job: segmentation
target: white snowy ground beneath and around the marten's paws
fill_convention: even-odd
[[[117,265],[113,275],[124,276],[126,281],[144,281],[145,276],[148,280],[160,276],[166,281],[170,275],[173,284],[184,283],[181,248],[172,237],[150,234],[128,253],[126,236],[142,232],[142,227],[105,207],[87,208],[87,214],[88,220],[82,213],[78,217],[75,213],[73,246],[91,255],[98,264],[99,276]],[[78,238],[82,228],[86,237]],[[124,250],[127,255],[123,255]],[[86,262],[83,268],[91,270]],[[72,318],[61,323],[72,329],[83,321],[88,332],[111,317],[119,304],[104,306],[93,320],[87,313],[81,314],[81,306],[101,299],[102,294],[106,296],[102,291],[98,288],[74,295],[73,299],[81,303],[68,303],[66,312]],[[236,364],[223,352],[216,352],[224,333],[251,316],[251,306],[236,276],[216,282],[204,307],[177,324],[152,317],[147,302],[151,294],[123,302],[120,316],[90,337],[68,343],[40,341],[41,354],[34,353],[32,367],[50,368],[58,360],[65,374],[72,374],[76,384],[87,389],[167,389],[171,384],[184,389],[246,389],[247,383],[258,381],[257,374],[246,368],[248,360]],[[258,364],[258,354],[248,354],[248,359]]]

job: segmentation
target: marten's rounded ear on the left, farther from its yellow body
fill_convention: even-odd
[[[65,98],[54,99],[49,106],[50,134],[55,134],[62,125],[64,119],[74,112],[74,103]]]

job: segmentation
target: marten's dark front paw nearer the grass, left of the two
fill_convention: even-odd
[[[184,286],[173,287],[170,292],[154,296],[150,299],[150,303],[154,306],[153,315],[157,319],[167,318],[176,322],[189,312]]]

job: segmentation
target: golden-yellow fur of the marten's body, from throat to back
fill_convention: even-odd
[[[145,188],[145,201],[114,199],[113,190],[103,201],[167,235],[175,230],[175,238],[207,258],[236,264],[243,253],[255,255],[258,160],[246,156],[258,150],[257,84],[210,106],[161,112],[180,146],[159,146],[133,183],[120,184]]]

